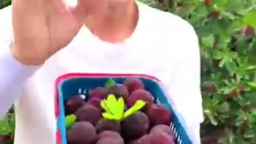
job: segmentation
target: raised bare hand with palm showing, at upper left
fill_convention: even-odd
[[[82,0],[68,8],[61,0],[13,0],[14,58],[41,65],[72,41],[97,5],[98,0]]]

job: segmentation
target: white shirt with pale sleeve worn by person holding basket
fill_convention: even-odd
[[[11,6],[0,10],[0,113],[16,101],[15,144],[55,144],[54,81],[66,73],[157,77],[170,95],[171,104],[185,119],[189,137],[195,144],[200,143],[203,110],[195,30],[176,15],[142,3],[138,7],[138,25],[124,43],[103,42],[82,27],[67,47],[39,69],[23,66],[12,58]]]

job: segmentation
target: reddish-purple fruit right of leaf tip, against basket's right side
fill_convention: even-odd
[[[163,105],[154,104],[147,108],[146,114],[150,119],[151,126],[171,124],[171,111],[167,110]]]

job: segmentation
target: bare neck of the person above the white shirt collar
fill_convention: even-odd
[[[115,9],[117,7],[117,9]],[[134,31],[138,21],[137,4],[131,3],[122,6],[107,6],[101,14],[92,14],[88,17],[86,27],[92,34],[98,36],[103,41],[115,43],[122,42]]]

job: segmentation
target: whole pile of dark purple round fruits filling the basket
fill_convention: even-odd
[[[102,117],[101,101],[109,94],[122,97],[126,109],[138,100],[147,104],[122,122]],[[171,111],[154,103],[139,78],[127,78],[109,89],[90,90],[88,98],[74,96],[65,101],[66,115],[74,114],[76,122],[67,130],[68,144],[174,144]]]

